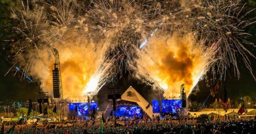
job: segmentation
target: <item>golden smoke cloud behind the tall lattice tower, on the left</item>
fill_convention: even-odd
[[[55,42],[53,47],[60,57],[63,95],[65,97],[83,97],[87,92],[96,92],[104,83],[107,69],[111,63],[105,59],[107,41],[94,43],[85,37],[77,38],[76,29],[67,31],[63,40]],[[39,52],[34,67],[30,70],[33,78],[41,82],[41,88],[52,93],[52,70],[54,69],[53,48]]]

